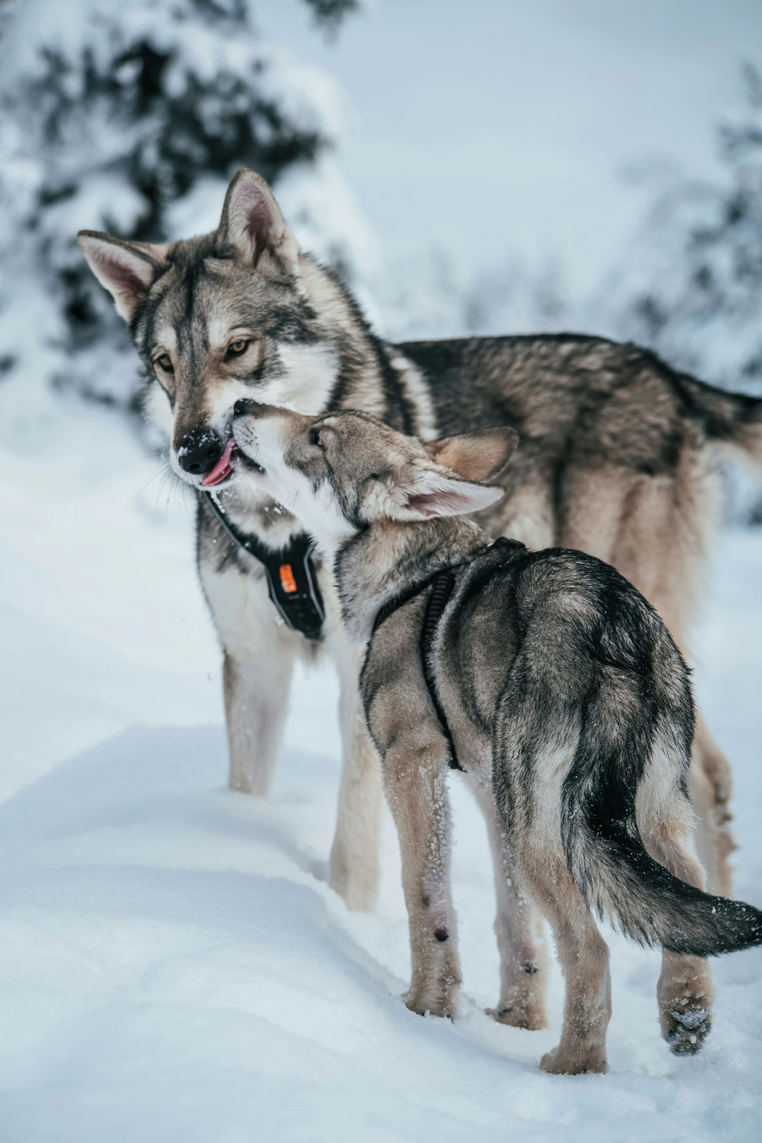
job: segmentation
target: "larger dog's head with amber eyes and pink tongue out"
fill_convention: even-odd
[[[183,480],[209,487],[231,478],[239,398],[256,393],[313,414],[327,407],[340,368],[343,295],[299,251],[254,171],[235,175],[210,234],[151,245],[81,231],[79,243],[130,327],[146,414],[168,433]]]

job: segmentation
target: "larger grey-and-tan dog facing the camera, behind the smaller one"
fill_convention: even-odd
[[[362,409],[422,440],[510,424],[522,446],[508,494],[481,522],[531,549],[562,544],[612,563],[685,647],[713,537],[716,457],[731,447],[762,458],[762,401],[600,338],[390,345],[336,278],[298,249],[270,187],[250,170],[231,182],[211,234],[149,245],[83,231],[80,245],[129,323],[145,367],[146,415],[170,438],[173,470],[199,493],[214,488],[224,519],[259,553],[287,552],[299,525],[239,479],[238,399],[305,414]],[[230,538],[212,507],[200,496],[198,559],[224,647],[230,784],[266,793],[295,658],[313,657],[318,644],[279,622],[260,560]],[[330,574],[316,568],[316,577],[323,644],[342,681],[331,884],[351,908],[367,909],[378,884],[380,769],[359,713],[358,654]],[[700,720],[690,786],[709,884],[729,893],[730,774]],[[497,925],[511,928],[506,917]]]

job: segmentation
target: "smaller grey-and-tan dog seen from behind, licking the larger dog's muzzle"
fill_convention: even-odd
[[[682,954],[699,978],[699,958],[762,943],[762,912],[703,892],[687,793],[693,704],[667,629],[601,560],[494,543],[465,518],[504,495],[483,481],[508,461],[512,429],[424,446],[364,413],[243,400],[233,433],[250,478],[334,560],[350,636],[368,642],[361,694],[402,853],[408,1007],[456,1009],[450,766],[487,808],[514,922],[526,893],[553,929],[567,994],[542,1066],[605,1071],[609,954],[592,912]],[[546,973],[536,934],[526,944],[508,993],[532,1026]],[[664,1036],[697,1050],[708,997],[688,1002],[666,978]]]

